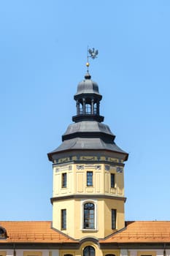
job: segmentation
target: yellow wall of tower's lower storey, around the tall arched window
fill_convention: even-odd
[[[83,229],[83,204],[95,204],[96,229]],[[117,230],[124,227],[124,202],[112,199],[90,200],[59,200],[53,203],[53,227],[61,230],[61,210],[66,209],[66,230],[61,230],[68,236],[80,239],[85,236],[104,238],[116,230],[112,230],[112,208],[117,209]]]

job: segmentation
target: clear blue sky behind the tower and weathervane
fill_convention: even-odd
[[[0,219],[50,220],[47,153],[90,75],[101,115],[129,153],[125,219],[170,220],[170,1],[0,2]]]

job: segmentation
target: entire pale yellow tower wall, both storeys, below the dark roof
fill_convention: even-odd
[[[53,227],[75,239],[87,236],[105,238],[125,226],[123,164],[120,159],[111,157],[109,162],[106,162],[106,157],[101,156],[102,162],[97,159],[84,156],[79,163],[59,159],[58,164],[53,165]],[[88,171],[93,172],[92,186],[87,185]],[[66,187],[62,187],[63,173],[67,177]],[[111,173],[115,175],[114,187],[111,187]],[[93,203],[95,208],[93,229],[83,227],[85,203]],[[61,229],[63,209],[66,209],[66,230]],[[112,209],[116,210],[114,230]]]

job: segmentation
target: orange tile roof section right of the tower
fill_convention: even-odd
[[[101,243],[170,243],[170,221],[126,222],[123,230]]]

